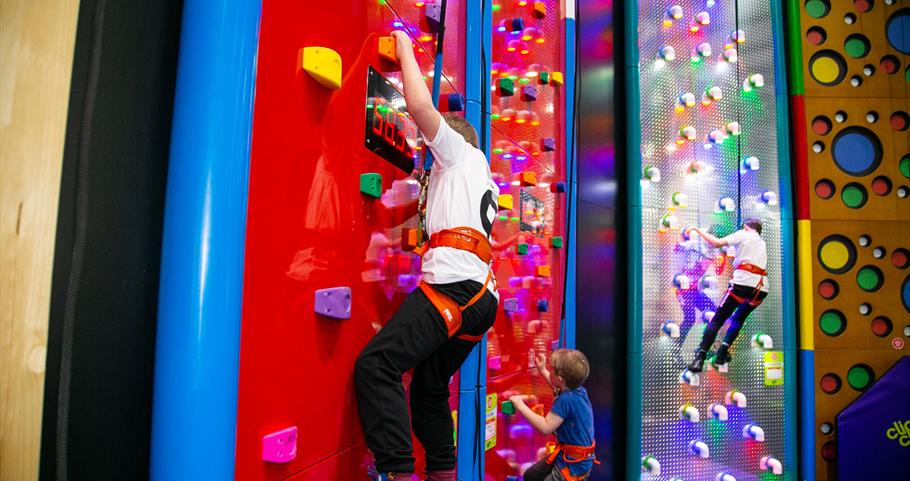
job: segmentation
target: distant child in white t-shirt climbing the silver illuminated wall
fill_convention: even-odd
[[[743,223],[742,229],[724,238],[717,238],[704,230],[693,227],[688,232],[696,232],[713,247],[733,246],[736,249],[736,262],[733,265],[733,278],[730,288],[720,308],[705,327],[701,344],[695,351],[695,359],[689,364],[691,372],[701,372],[704,368],[708,349],[714,343],[717,332],[727,319],[731,319],[727,334],[717,350],[714,364],[722,366],[730,361],[730,346],[739,336],[739,331],[749,314],[764,301],[768,295],[768,248],[761,238],[761,220],[750,218]]]

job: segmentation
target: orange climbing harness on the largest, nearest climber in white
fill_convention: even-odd
[[[428,248],[436,247],[451,247],[453,249],[468,251],[476,255],[486,264],[489,264],[490,261],[493,260],[493,247],[490,245],[489,239],[470,227],[456,227],[454,229],[441,230],[430,236],[429,242],[414,249],[414,252],[419,256],[423,256]],[[450,338],[457,337],[458,339],[463,339],[465,341],[477,342],[483,339],[483,334],[472,336],[470,334],[458,333],[461,330],[461,313],[483,297],[491,279],[493,279],[492,270],[487,274],[487,279],[484,281],[480,291],[463,306],[458,305],[458,302],[451,297],[433,289],[433,286],[424,281],[420,282],[420,290],[423,291],[430,302],[433,303],[433,306],[436,307],[436,310],[439,311],[442,320],[446,323],[446,330],[448,331]]]

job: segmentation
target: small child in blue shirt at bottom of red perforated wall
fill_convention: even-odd
[[[594,413],[588,392],[581,384],[588,378],[588,358],[575,349],[557,349],[550,356],[538,354],[537,370],[558,392],[546,416],[531,410],[521,395],[509,398],[515,410],[541,434],[556,433],[556,449],[524,472],[524,481],[583,481],[594,464]]]

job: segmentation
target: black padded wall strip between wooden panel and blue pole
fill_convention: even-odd
[[[182,1],[82,0],[51,293],[41,480],[148,478]]]

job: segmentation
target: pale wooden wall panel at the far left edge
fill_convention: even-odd
[[[0,4],[0,480],[38,477],[78,0]]]

